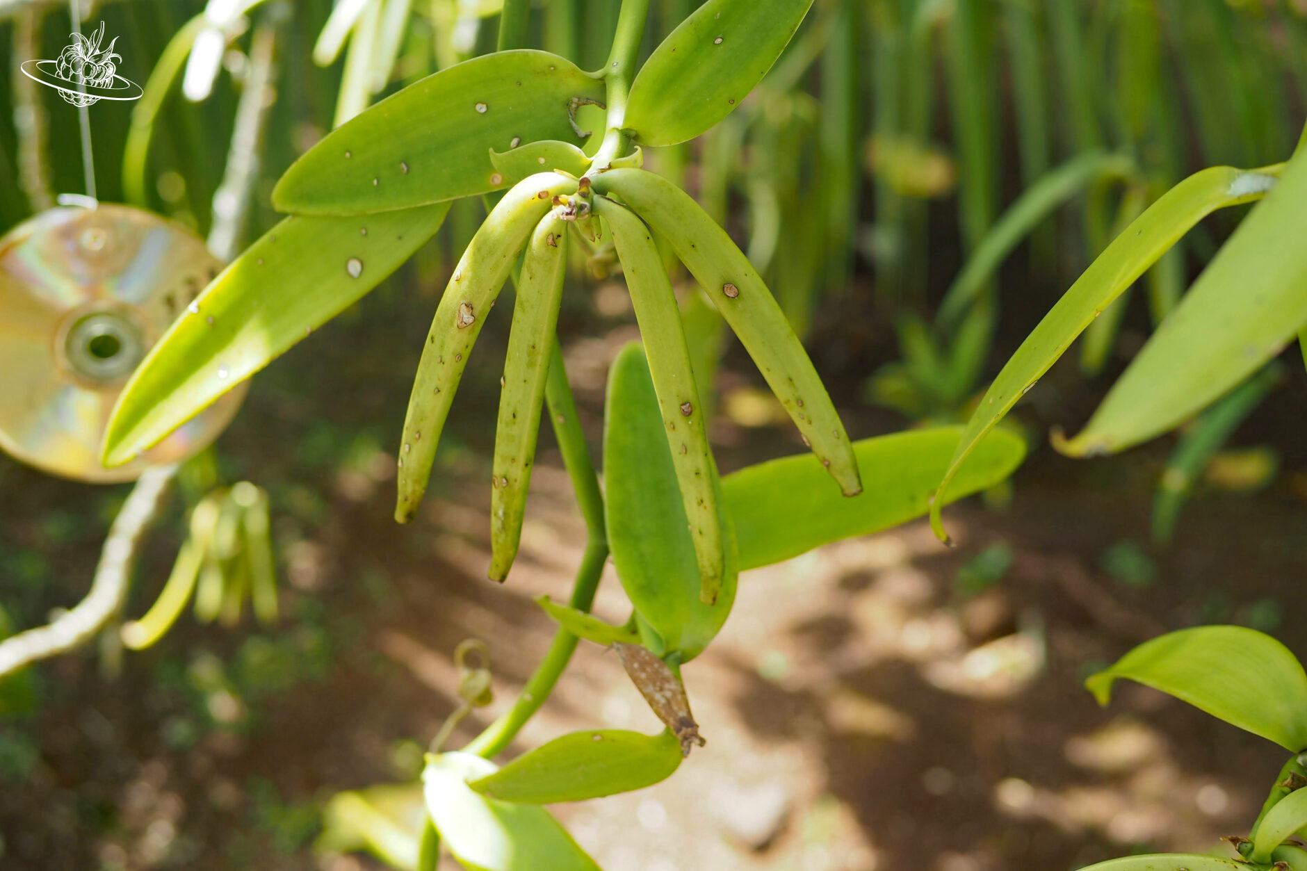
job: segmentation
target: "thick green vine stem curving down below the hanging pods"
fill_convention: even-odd
[[[563,464],[567,467],[572,489],[576,492],[576,504],[586,519],[589,538],[580,566],[576,569],[576,579],[572,583],[569,604],[578,611],[589,611],[595,602],[600,574],[604,572],[604,562],[608,561],[604,497],[600,494],[599,477],[589,460],[589,449],[586,446],[586,435],[576,416],[576,403],[572,399],[571,386],[567,383],[567,371],[563,367],[563,356],[557,339],[549,362],[549,379],[545,382],[545,403],[549,405],[549,420],[554,426],[554,435],[558,438]],[[553,692],[554,684],[558,683],[558,677],[567,667],[572,651],[576,650],[576,636],[559,628],[554,633],[549,653],[527,680],[527,685],[521,688],[512,708],[490,723],[464,751],[490,759],[512,743],[525,722]]]

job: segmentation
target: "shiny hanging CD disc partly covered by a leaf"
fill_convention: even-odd
[[[128,377],[220,268],[193,233],[125,205],[54,208],[0,238],[0,449],[112,483],[213,442],[246,386],[127,466],[99,463]]]

